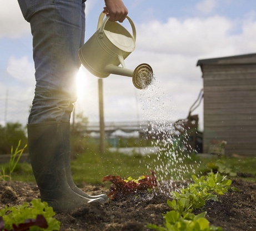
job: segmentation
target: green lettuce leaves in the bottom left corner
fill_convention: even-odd
[[[33,199],[30,204],[24,202],[18,207],[5,207],[4,209],[0,210],[0,217],[3,218],[4,229],[6,230],[13,230],[13,225],[19,226],[20,224],[24,224],[28,219],[37,220],[38,215],[43,215],[48,225],[47,228],[41,228],[37,225],[33,225],[32,223],[32,226],[29,227],[29,229],[16,230],[59,230],[61,222],[59,222],[56,218],[53,218],[55,213],[53,212],[52,207],[48,207],[48,204],[46,202],[41,202],[40,199]]]

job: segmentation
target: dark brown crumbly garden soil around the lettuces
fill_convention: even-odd
[[[219,197],[218,202],[208,201],[195,213],[206,211],[210,224],[225,231],[256,230],[256,182],[234,179],[233,186],[239,192],[230,191]],[[109,190],[102,185],[86,185],[82,189],[92,195],[107,194]],[[39,198],[36,184],[0,181],[0,209],[34,198]],[[170,210],[167,199],[171,198],[164,190],[158,194],[129,196],[105,204],[82,205],[72,212],[57,213],[56,219],[61,222],[60,230],[146,231],[148,223],[163,224],[163,214]]]

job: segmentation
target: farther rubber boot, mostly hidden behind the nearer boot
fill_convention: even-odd
[[[106,194],[100,194],[100,195],[94,195],[94,196],[89,195],[83,192],[81,189],[79,189],[77,185],[74,183],[72,178],[72,172],[71,172],[70,124],[63,122],[62,127],[63,127],[64,144],[67,145],[66,147],[67,152],[65,153],[64,161],[65,161],[65,167],[66,167],[66,177],[67,177],[67,182],[69,186],[75,193],[82,195],[83,197],[86,197],[88,199],[103,198],[105,201],[107,201],[108,196]]]

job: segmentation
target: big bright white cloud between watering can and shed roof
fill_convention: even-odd
[[[151,21],[138,27],[137,47],[147,51],[198,56],[230,47],[233,24],[224,17],[169,18],[167,23]]]

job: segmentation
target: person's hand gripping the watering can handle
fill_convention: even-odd
[[[123,22],[126,19],[128,10],[122,0],[105,0],[106,7],[104,7],[104,13],[109,17],[109,21]]]

